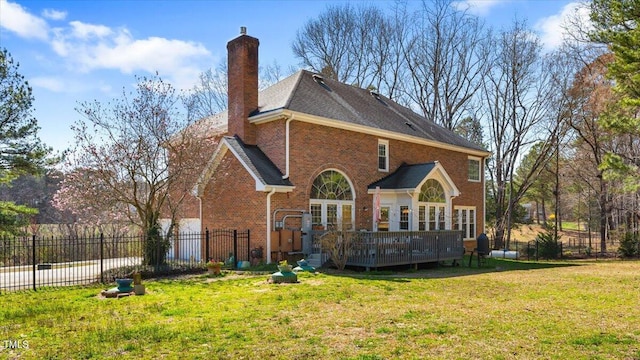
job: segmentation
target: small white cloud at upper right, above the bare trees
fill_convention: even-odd
[[[546,50],[559,47],[567,36],[567,31],[572,29],[572,22],[580,21],[582,25],[589,24],[589,9],[581,2],[571,2],[565,5],[562,10],[555,14],[542,18],[536,22],[534,28],[540,33]]]

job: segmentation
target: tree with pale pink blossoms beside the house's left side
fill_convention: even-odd
[[[175,89],[157,75],[106,104],[80,103],[75,147],[54,204],[80,221],[125,219],[145,234],[145,263],[162,264],[176,214],[190,193],[214,135],[193,123]],[[171,218],[162,236],[160,217]]]

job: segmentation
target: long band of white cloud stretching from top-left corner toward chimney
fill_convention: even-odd
[[[105,69],[125,74],[158,72],[176,87],[191,87],[198,74],[212,63],[211,53],[200,43],[161,37],[135,39],[124,27],[77,20],[50,28],[45,19],[63,20],[67,14],[47,9],[42,12],[43,17],[38,17],[7,0],[0,0],[0,9],[3,28],[23,38],[47,42],[72,73]],[[32,81],[52,91],[66,90],[53,78]]]

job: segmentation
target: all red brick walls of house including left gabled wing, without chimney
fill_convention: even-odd
[[[271,210],[307,210],[313,180],[333,168],[345,173],[353,183],[357,228],[371,229],[372,196],[367,194],[367,187],[389,174],[377,170],[379,137],[300,121],[292,121],[290,125],[290,180],[295,189],[291,193],[274,194]],[[259,125],[257,132],[258,146],[282,172],[285,170],[284,127],[284,120],[275,121]],[[482,232],[483,189],[481,183],[467,180],[467,154],[389,140],[389,155],[391,172],[403,162],[439,161],[461,192],[453,205],[475,206],[478,233]],[[255,190],[255,180],[228,152],[204,193],[203,229],[249,229],[251,246],[263,246],[266,251],[266,198],[267,193]]]

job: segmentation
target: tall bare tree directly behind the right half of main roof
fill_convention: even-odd
[[[405,56],[407,96],[428,120],[453,130],[468,116],[487,71],[488,37],[483,23],[452,1],[423,1]]]

